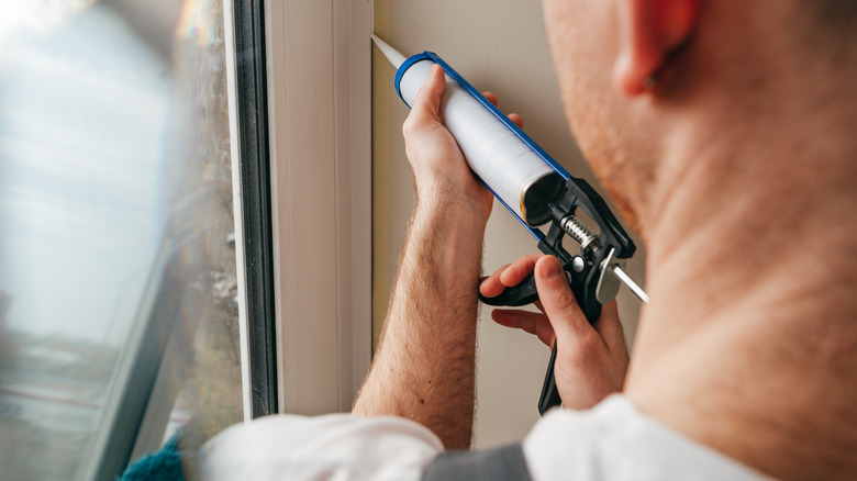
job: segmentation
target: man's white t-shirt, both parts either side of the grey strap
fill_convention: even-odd
[[[644,416],[614,394],[589,411],[553,410],[523,440],[534,481],[767,479]],[[425,427],[398,417],[269,416],[230,427],[203,447],[209,480],[419,480],[443,451]]]

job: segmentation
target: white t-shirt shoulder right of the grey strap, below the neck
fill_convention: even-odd
[[[523,448],[535,480],[766,479],[649,418],[621,394],[588,411],[548,412]]]

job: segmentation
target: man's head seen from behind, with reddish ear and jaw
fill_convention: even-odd
[[[683,144],[739,142],[745,124],[791,107],[821,107],[825,94],[813,91],[833,81],[826,67],[853,58],[857,45],[853,0],[544,0],[544,7],[569,125],[644,237],[685,164],[702,161],[677,158],[693,150]]]

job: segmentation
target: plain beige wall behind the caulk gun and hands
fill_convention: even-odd
[[[433,51],[476,88],[496,92],[500,109],[522,114],[525,131],[546,152],[571,175],[597,184],[563,115],[541,2],[377,0],[375,29],[404,55]],[[413,205],[413,191],[401,137],[408,109],[392,90],[392,68],[377,51],[374,63],[372,278],[377,337]],[[535,251],[533,237],[496,202],[486,235],[483,270],[492,272]],[[628,270],[635,279],[643,279],[642,253]],[[620,313],[628,338],[636,327],[637,311],[638,302],[623,290]],[[476,446],[520,439],[528,432],[538,416],[536,402],[548,355],[547,348],[534,337],[493,324],[490,309],[482,309]]]

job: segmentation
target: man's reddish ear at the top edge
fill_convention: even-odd
[[[669,53],[697,27],[700,0],[619,0],[620,53],[613,85],[626,96],[654,88]]]

